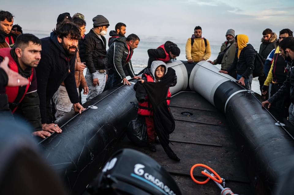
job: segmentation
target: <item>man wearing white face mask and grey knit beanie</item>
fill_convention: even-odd
[[[89,87],[87,101],[102,93],[107,81],[106,39],[108,20],[97,15],[93,18],[93,28],[84,38],[87,73],[85,79]]]

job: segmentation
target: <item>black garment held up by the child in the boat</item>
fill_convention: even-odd
[[[160,144],[171,159],[179,161],[178,156],[168,145],[170,142],[168,135],[175,130],[175,120],[166,103],[166,95],[174,78],[175,70],[168,68],[168,72],[160,82],[137,82],[136,98],[144,101],[145,96],[148,95],[153,109],[155,132],[160,140]]]

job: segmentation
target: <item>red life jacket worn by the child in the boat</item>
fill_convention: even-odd
[[[151,75],[149,74],[144,74],[144,75],[147,78],[147,82],[154,82],[154,79]],[[171,102],[171,92],[169,91],[169,88],[168,88],[166,103],[169,105],[170,102]],[[143,103],[139,103],[139,108],[137,113],[142,116],[153,116],[152,105],[150,104],[148,100],[148,96],[145,97],[145,101]]]

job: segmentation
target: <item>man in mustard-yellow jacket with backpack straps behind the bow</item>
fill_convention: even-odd
[[[208,60],[211,55],[209,41],[202,36],[202,28],[196,26],[194,35],[187,40],[186,57],[189,63]]]

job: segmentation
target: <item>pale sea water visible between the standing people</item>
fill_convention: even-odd
[[[31,32],[25,32],[25,31],[24,33],[32,33],[39,38],[44,38],[50,35],[50,32],[44,32],[44,31],[31,31]],[[134,54],[131,59],[133,69],[136,74],[139,73],[143,68],[147,67],[147,63],[148,63],[147,50],[156,49],[158,46],[164,44],[166,41],[172,41],[176,43],[178,47],[180,48],[181,53],[179,57],[177,57],[178,60],[183,60],[183,61],[187,60],[186,54],[185,54],[185,46],[186,46],[186,42],[188,38],[175,39],[173,37],[140,36],[140,35],[139,37],[140,37],[140,42],[139,42],[138,48],[134,49]],[[109,36],[107,35],[105,36],[105,38],[106,40],[108,40]],[[209,38],[207,39],[209,40]],[[213,61],[217,58],[217,55],[220,52],[220,46],[224,41],[225,39],[209,42],[210,49],[211,49],[211,56],[209,60]],[[257,51],[259,50],[260,42],[254,42],[254,43],[249,42],[249,43],[255,48],[255,50]],[[108,46],[107,46],[107,49],[108,49]],[[216,66],[220,68],[220,64],[217,64]],[[84,70],[84,75],[85,73],[86,73],[86,69]],[[130,77],[127,77],[127,78],[130,79]],[[257,77],[253,79],[251,89],[256,93],[261,94],[259,90],[259,82]],[[85,101],[86,101],[86,95],[82,94],[82,103],[84,103]]]

